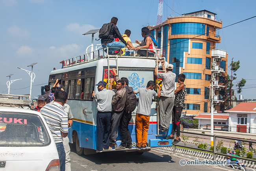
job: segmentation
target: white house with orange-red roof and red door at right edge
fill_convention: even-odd
[[[240,103],[225,112],[230,113],[229,131],[256,133],[256,103]]]

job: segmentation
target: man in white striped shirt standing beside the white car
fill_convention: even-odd
[[[66,137],[69,134],[68,115],[63,108],[66,102],[67,93],[65,91],[57,91],[54,94],[54,103],[42,107],[40,111],[56,143],[61,171],[65,171],[66,157],[62,137]]]

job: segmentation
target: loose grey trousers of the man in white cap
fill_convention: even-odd
[[[159,101],[159,124],[160,129],[169,129],[172,120],[174,97],[161,96]]]

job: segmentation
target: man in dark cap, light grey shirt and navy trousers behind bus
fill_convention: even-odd
[[[112,105],[111,100],[115,95],[115,92],[106,89],[107,83],[104,81],[98,82],[95,86],[98,86],[98,93],[94,95],[98,102],[97,104],[97,152],[102,152],[102,150],[112,149],[109,147],[109,135],[111,127],[111,112]],[[104,126],[105,125],[105,126]],[[105,129],[105,132],[104,132]]]

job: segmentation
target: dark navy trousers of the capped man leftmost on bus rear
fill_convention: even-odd
[[[97,150],[108,149],[111,126],[111,112],[97,113]],[[104,132],[105,127],[105,132]]]

